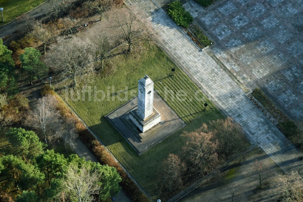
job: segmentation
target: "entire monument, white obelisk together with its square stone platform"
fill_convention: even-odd
[[[105,117],[139,155],[185,126],[154,92],[154,82],[147,75],[138,82],[138,96]]]

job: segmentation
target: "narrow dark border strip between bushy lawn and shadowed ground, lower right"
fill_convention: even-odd
[[[246,155],[248,155],[252,151],[256,150],[257,148],[259,148],[259,145],[252,145],[247,150],[245,150],[244,152],[242,152],[241,154],[233,157],[232,159],[227,160],[226,163],[219,168],[220,171],[218,173],[223,172],[225,169],[227,169],[228,167],[232,166],[238,160],[240,160],[241,158],[245,157]],[[206,183],[209,180],[211,180],[211,178],[215,177],[218,173],[211,172],[211,173],[207,174],[206,176],[202,177],[200,180],[195,181],[190,186],[188,186],[187,188],[185,188],[184,190],[182,190],[181,192],[179,192],[178,194],[176,194],[174,197],[172,197],[171,199],[169,199],[167,202],[175,202],[175,201],[178,201],[178,200],[182,199],[187,194],[189,194],[191,191],[193,191],[196,188],[198,188],[199,186],[201,186],[203,183]]]

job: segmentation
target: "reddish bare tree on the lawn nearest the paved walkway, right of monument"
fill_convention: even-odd
[[[231,117],[227,119],[218,119],[211,121],[210,124],[215,136],[219,141],[219,149],[227,157],[236,153],[239,149],[239,140],[241,134],[241,127],[237,123],[233,123]]]

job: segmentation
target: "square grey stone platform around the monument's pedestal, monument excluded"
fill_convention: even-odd
[[[161,121],[144,133],[138,130],[129,118],[129,113],[138,107],[138,96],[105,116],[139,155],[147,152],[185,126],[182,119],[155,91],[153,106],[161,115]]]

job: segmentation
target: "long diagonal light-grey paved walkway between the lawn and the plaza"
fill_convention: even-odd
[[[229,116],[240,123],[251,143],[258,143],[282,170],[298,170],[302,153],[255,107],[244,91],[206,53],[201,52],[191,39],[155,5],[154,0],[127,2],[151,25],[166,49],[188,70]],[[142,20],[143,20],[142,18]]]

